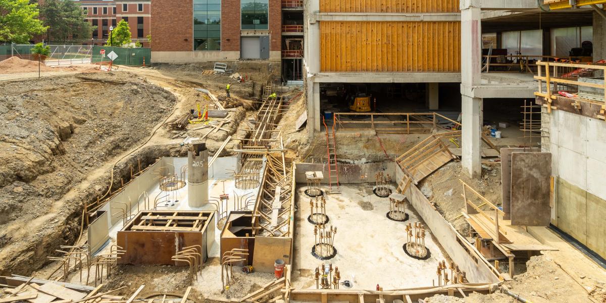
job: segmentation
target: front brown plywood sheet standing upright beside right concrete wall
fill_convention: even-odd
[[[511,153],[511,225],[547,226],[551,153]]]

